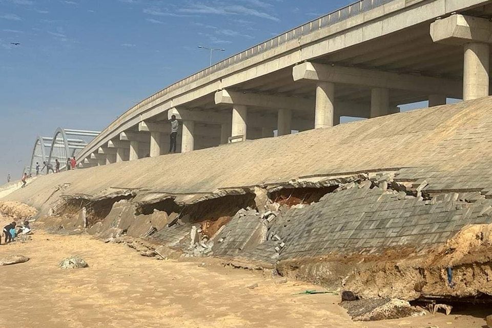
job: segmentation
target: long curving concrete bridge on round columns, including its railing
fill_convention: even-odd
[[[492,1],[362,0],[193,74],[113,121],[81,167],[372,118],[489,95]]]

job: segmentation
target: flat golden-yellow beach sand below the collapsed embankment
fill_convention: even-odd
[[[2,220],[1,223],[5,223]],[[334,295],[302,282],[276,284],[258,272],[217,261],[156,260],[122,244],[87,235],[36,231],[33,240],[0,247],[0,257],[26,263],[0,267],[0,327],[482,327],[478,316],[425,316],[352,322]],[[62,270],[58,262],[82,256],[87,269]],[[247,286],[258,283],[255,289]],[[8,321],[8,322],[7,322]]]

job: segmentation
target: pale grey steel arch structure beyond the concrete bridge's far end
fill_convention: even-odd
[[[56,159],[60,162],[60,169],[66,168],[67,158],[76,156],[99,133],[99,131],[58,128],[53,137],[37,136],[32,149],[30,165],[25,168],[24,172],[35,174],[36,163],[43,167],[43,162],[51,163],[54,168]]]

